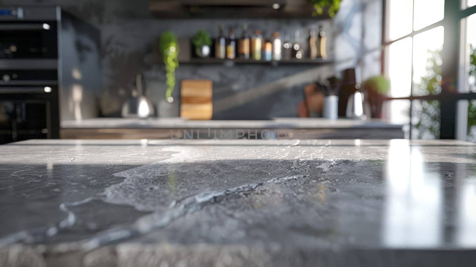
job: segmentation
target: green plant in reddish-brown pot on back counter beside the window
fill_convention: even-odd
[[[367,93],[372,118],[382,118],[382,104],[387,98],[390,81],[383,75],[374,76],[364,81],[362,87]]]

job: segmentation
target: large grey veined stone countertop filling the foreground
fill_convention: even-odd
[[[456,140],[0,146],[0,266],[471,266]]]

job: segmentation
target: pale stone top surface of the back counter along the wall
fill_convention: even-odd
[[[97,118],[83,120],[65,120],[61,128],[157,128],[157,129],[184,129],[184,128],[224,128],[224,129],[342,129],[342,128],[394,128],[402,129],[403,124],[389,123],[380,119],[358,120],[322,118],[275,118],[270,120],[188,120],[181,118]]]

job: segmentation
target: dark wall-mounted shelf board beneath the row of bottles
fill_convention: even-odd
[[[215,58],[190,58],[188,60],[179,61],[179,64],[196,64],[196,65],[211,65],[223,64],[226,66],[233,66],[235,64],[268,64],[272,66],[278,65],[324,65],[331,64],[334,61],[330,59],[291,59],[279,61],[253,60],[253,59],[215,59]]]

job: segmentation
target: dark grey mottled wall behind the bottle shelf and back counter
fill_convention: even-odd
[[[136,73],[147,78],[147,95],[158,109],[165,95],[165,72],[161,62],[153,60],[154,40],[164,30],[178,37],[190,38],[197,30],[217,35],[218,24],[233,27],[239,37],[240,26],[248,25],[249,34],[260,29],[265,37],[273,31],[281,36],[299,30],[303,42],[309,29],[323,26],[327,32],[327,53],[335,63],[313,65],[190,65],[176,70],[177,85],[173,93],[179,99],[182,79],[213,81],[213,118],[250,119],[254,117],[295,117],[302,89],[309,82],[339,75],[350,67],[359,69],[358,79],[380,73],[382,0],[343,0],[333,19],[327,20],[161,20],[152,18],[148,0],[3,0],[2,5],[61,5],[80,19],[101,30],[103,91],[101,112],[106,117],[120,115],[120,107],[130,95]],[[178,115],[174,101],[173,114]]]

